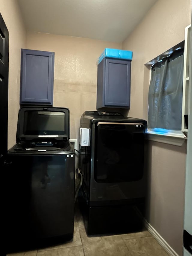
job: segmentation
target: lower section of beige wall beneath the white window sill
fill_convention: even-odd
[[[182,255],[185,161],[182,147],[149,141],[148,205],[146,219]]]

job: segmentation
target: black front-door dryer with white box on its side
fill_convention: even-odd
[[[121,113],[82,114],[80,206],[88,234],[128,233],[141,227],[137,216],[146,197],[146,130],[146,120]]]

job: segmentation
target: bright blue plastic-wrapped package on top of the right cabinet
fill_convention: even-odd
[[[126,59],[132,60],[133,52],[119,49],[105,48],[97,59],[97,65],[102,61],[103,58],[114,58],[114,59]]]

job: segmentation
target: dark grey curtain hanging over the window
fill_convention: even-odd
[[[152,66],[148,128],[181,130],[183,52],[178,50]]]

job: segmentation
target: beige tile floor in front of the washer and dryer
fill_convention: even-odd
[[[73,239],[62,245],[7,256],[167,256],[147,230],[114,236],[86,235],[82,215],[75,207]]]

